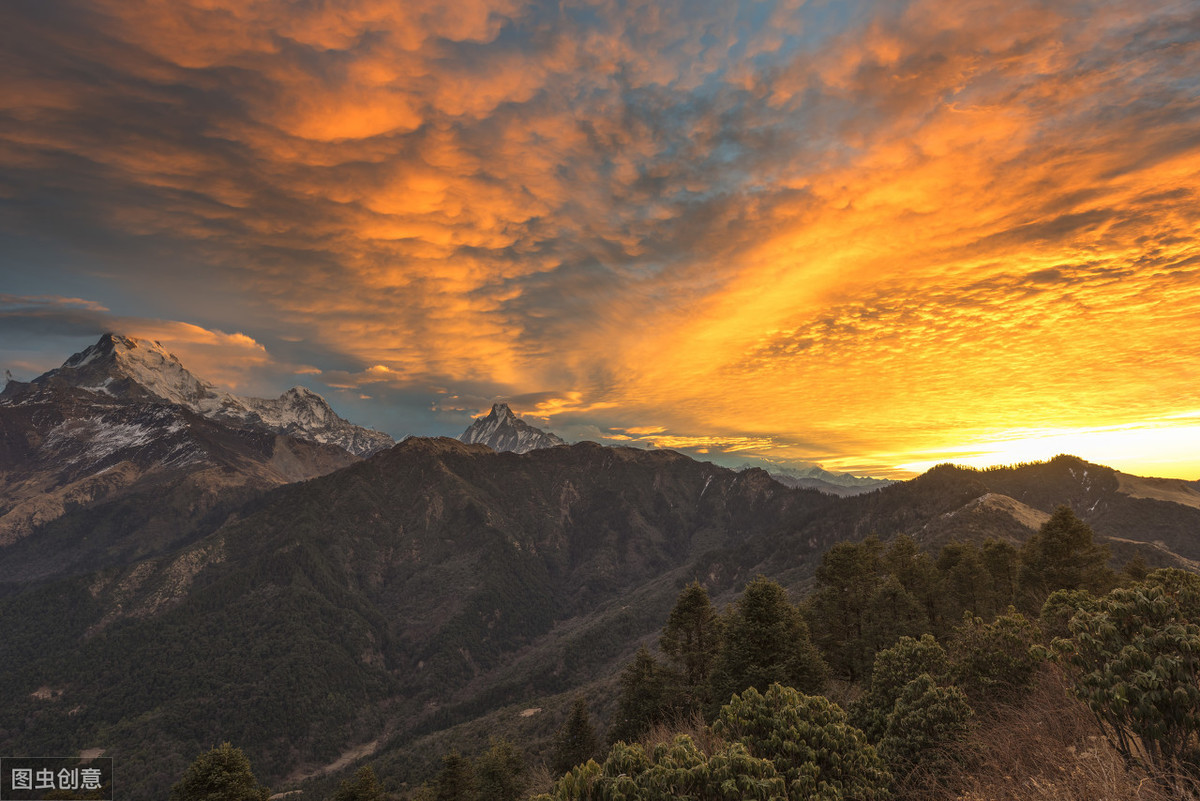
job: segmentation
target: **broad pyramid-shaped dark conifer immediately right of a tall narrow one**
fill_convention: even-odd
[[[824,687],[828,668],[787,594],[761,576],[746,585],[725,626],[725,645],[713,671],[714,701],[748,687],[779,682],[802,692]]]

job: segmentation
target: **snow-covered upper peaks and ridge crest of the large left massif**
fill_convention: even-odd
[[[293,387],[278,398],[223,392],[190,373],[157,342],[114,333],[106,333],[32,384],[73,386],[126,401],[166,401],[211,420],[336,445],[355,456],[395,445],[388,434],[343,420],[324,398],[304,387]]]

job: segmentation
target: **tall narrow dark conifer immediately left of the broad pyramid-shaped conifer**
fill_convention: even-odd
[[[721,652],[721,619],[698,582],[684,588],[659,637],[659,648],[678,676],[680,711],[702,710],[709,701],[709,680]]]

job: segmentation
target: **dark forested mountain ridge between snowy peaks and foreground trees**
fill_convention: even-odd
[[[106,748],[139,767],[137,800],[229,740],[286,789],[353,748],[397,760],[611,681],[688,582],[718,602],[760,573],[800,591],[842,540],[1019,540],[1066,502],[1111,542],[1190,559],[1200,508],[1152,492],[1188,498],[1072,457],[833,498],[670,451],[413,438],[0,601],[0,752]]]

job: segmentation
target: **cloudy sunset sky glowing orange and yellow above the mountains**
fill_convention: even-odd
[[[1200,478],[1194,0],[6,0],[0,367]]]

